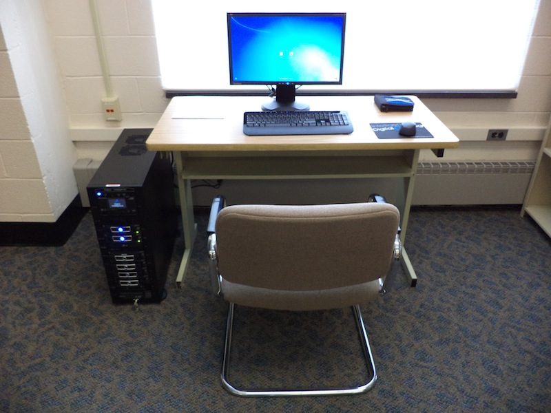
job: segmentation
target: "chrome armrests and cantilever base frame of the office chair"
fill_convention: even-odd
[[[211,288],[215,295],[222,295],[222,275],[218,271],[218,257],[216,254],[216,231],[215,223],[216,216],[220,210],[225,207],[225,201],[223,198],[215,198],[213,206],[211,208],[211,215],[209,220],[208,230],[210,235],[208,239],[208,253],[209,253],[209,271],[211,274]],[[388,273],[384,278],[379,279],[380,290],[382,295],[386,293],[392,286],[397,268],[400,266],[400,259],[402,257],[402,242],[399,238],[399,233],[395,236],[395,242],[393,247],[393,258],[391,266],[388,269]],[[220,381],[222,386],[231,394],[237,396],[331,396],[331,395],[345,395],[345,394],[360,394],[373,388],[375,381],[377,380],[377,371],[375,369],[375,362],[373,361],[373,353],[371,352],[371,346],[367,332],[364,326],[364,320],[362,319],[362,311],[360,305],[355,304],[352,306],[355,323],[357,326],[357,332],[360,336],[360,342],[362,344],[362,350],[364,353],[364,359],[366,368],[369,373],[369,380],[357,387],[353,388],[320,388],[320,389],[278,389],[278,390],[241,390],[233,386],[229,382],[229,366],[231,358],[231,339],[233,332],[233,311],[235,304],[229,301],[229,308],[226,322],[226,336],[224,356],[222,361],[222,372],[220,374]]]

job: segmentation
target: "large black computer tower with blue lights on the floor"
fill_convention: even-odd
[[[147,151],[152,129],[124,129],[87,185],[116,304],[160,302],[177,233],[171,157]],[[136,301],[137,300],[137,301]]]

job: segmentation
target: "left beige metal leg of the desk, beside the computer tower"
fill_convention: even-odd
[[[178,193],[180,195],[180,210],[182,212],[182,229],[184,233],[184,254],[178,275],[176,275],[176,287],[182,288],[191,256],[191,250],[194,247],[196,236],[196,225],[194,219],[194,202],[191,196],[191,182],[183,178],[183,165],[185,163],[185,154],[178,153],[176,156],[176,170],[178,171]]]

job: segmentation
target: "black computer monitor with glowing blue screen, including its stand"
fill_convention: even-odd
[[[228,13],[231,85],[275,85],[263,110],[308,110],[296,85],[341,85],[346,13]]]

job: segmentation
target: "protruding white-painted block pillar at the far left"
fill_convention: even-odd
[[[61,82],[37,0],[1,0],[0,221],[55,222],[78,193]]]

